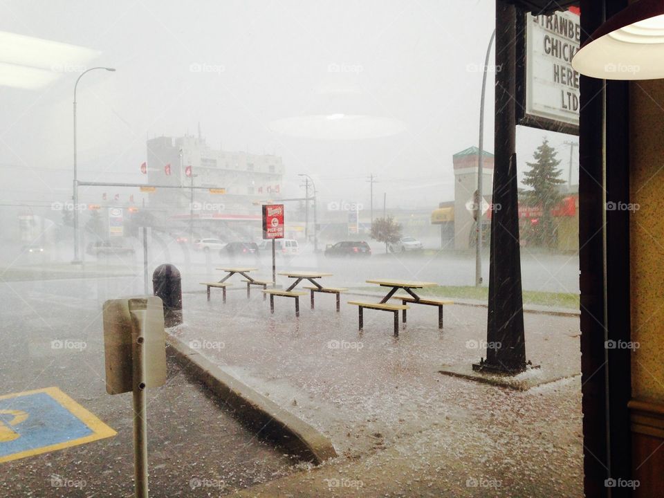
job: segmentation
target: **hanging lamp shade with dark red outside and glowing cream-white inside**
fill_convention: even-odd
[[[664,78],[664,0],[640,0],[607,20],[572,59],[602,80]]]

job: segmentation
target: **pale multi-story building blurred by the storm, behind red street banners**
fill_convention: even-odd
[[[161,136],[147,140],[147,174],[151,185],[182,187],[150,194],[150,207],[163,212],[170,226],[185,228],[193,219],[196,232],[216,233],[244,223],[254,234],[259,203],[280,196],[284,164],[273,154],[212,149],[201,136]]]

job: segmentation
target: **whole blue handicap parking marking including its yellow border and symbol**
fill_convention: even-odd
[[[57,387],[0,396],[0,463],[115,435]]]

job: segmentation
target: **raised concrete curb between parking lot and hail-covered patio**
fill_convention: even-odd
[[[338,456],[330,439],[314,427],[226,374],[174,335],[167,333],[166,337],[170,346],[167,351],[172,351],[180,362],[192,366],[192,375],[228,405],[241,423],[284,445],[300,459],[313,461],[316,465]]]

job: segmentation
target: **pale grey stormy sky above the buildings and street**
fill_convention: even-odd
[[[430,208],[453,199],[452,154],[477,145],[481,65],[493,0],[5,1],[0,30],[100,50],[80,83],[79,178],[144,181],[147,136],[195,134],[213,148],[284,158],[284,194],[298,173],[322,201]],[[493,55],[491,60],[493,60]],[[218,71],[196,72],[203,64]],[[331,64],[356,68],[331,73]],[[192,66],[193,65],[193,66]],[[71,195],[72,98],[79,73],[38,91],[0,89],[0,191],[22,202]],[[493,151],[492,73],[485,148]],[[320,93],[347,86],[362,108],[406,130],[368,140],[277,135],[273,120],[316,113]],[[573,137],[517,131],[519,164],[548,136],[567,178]],[[573,183],[578,178],[578,163]],[[109,192],[115,192],[111,190]],[[95,201],[100,191],[87,191]],[[140,194],[135,195],[140,199]]]

